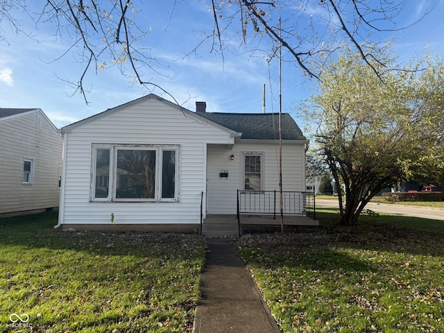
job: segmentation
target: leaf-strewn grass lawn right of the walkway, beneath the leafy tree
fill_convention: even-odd
[[[238,242],[283,332],[444,332],[443,221],[316,214],[316,232]]]

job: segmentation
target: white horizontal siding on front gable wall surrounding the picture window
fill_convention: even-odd
[[[188,117],[174,105],[142,99],[104,112],[64,134],[65,173],[60,222],[69,224],[200,223],[200,196],[205,191],[207,143],[233,144],[227,130]],[[155,202],[92,202],[92,146],[176,146],[176,199]],[[112,173],[112,171],[111,171]],[[160,176],[162,178],[162,176]],[[157,178],[157,181],[161,181]],[[162,193],[158,192],[160,196]],[[95,200],[96,201],[96,200]]]

